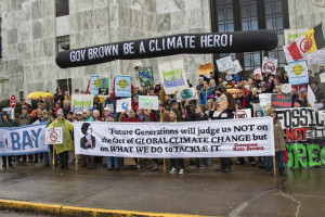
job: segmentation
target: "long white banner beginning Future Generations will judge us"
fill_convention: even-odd
[[[274,155],[273,119],[195,123],[73,123],[76,154],[120,157]]]

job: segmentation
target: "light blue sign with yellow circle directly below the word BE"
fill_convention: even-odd
[[[115,95],[118,98],[131,97],[131,76],[130,75],[115,76]]]

